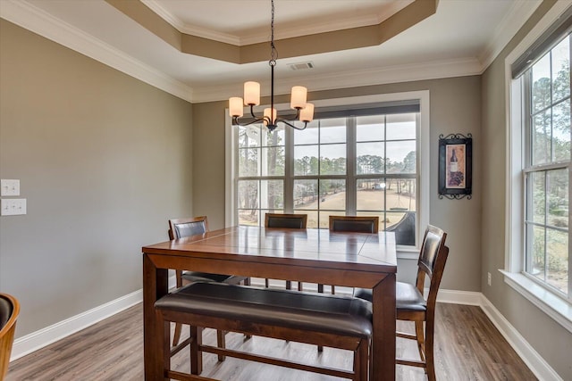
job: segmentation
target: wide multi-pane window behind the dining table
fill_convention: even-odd
[[[400,229],[398,244],[413,249],[428,198],[428,170],[422,177],[419,162],[428,156],[428,147],[421,148],[428,112],[425,118],[420,112],[428,110],[422,105],[428,92],[419,93],[423,100],[323,101],[304,130],[227,126],[233,152],[227,197],[234,205],[228,225],[264,225],[265,212],[306,213],[308,228],[328,228],[330,215],[377,215],[380,229]]]

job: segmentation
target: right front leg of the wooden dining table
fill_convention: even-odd
[[[374,286],[374,335],[372,337],[372,381],[395,380],[395,274],[387,274]]]

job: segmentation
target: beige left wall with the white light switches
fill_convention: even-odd
[[[192,106],[0,21],[0,291],[18,337],[141,288],[140,247],[192,214]]]

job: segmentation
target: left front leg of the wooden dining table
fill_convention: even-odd
[[[143,254],[143,359],[147,381],[164,380],[164,337],[158,327],[155,302],[168,292],[168,271],[157,269]]]

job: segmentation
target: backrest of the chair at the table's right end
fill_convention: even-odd
[[[424,294],[425,277],[429,277],[431,280],[429,294],[427,294],[428,310],[434,309],[443,270],[449,256],[449,247],[445,245],[446,239],[447,233],[441,228],[429,225],[425,229],[419,260],[417,261],[416,287],[421,294]]]

